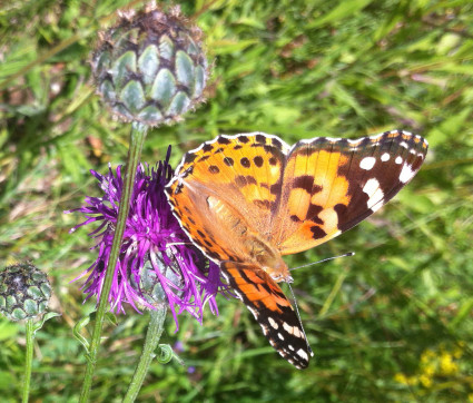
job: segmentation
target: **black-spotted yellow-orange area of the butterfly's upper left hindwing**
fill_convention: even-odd
[[[264,233],[279,196],[277,188],[287,150],[288,146],[276,137],[220,136],[185,156],[169,185],[169,199],[176,205],[186,200],[186,186],[213,193],[245,217],[252,228]]]

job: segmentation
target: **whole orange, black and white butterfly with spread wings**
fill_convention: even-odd
[[[304,368],[312,351],[277,284],[293,282],[282,256],[321,245],[380,209],[426,153],[426,140],[401,130],[293,147],[263,132],[219,136],[185,155],[166,190],[183,228],[220,265],[269,343]]]

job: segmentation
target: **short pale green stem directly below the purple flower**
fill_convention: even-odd
[[[134,377],[128,386],[124,403],[135,402],[135,399],[138,396],[142,381],[145,381],[145,376],[148,373],[149,365],[155,358],[155,350],[159,343],[164,328],[162,325],[165,323],[166,309],[167,308],[164,305],[157,311],[149,312],[151,317],[149,321],[148,332],[146,333],[145,345],[142,346],[142,353],[135,370]]]

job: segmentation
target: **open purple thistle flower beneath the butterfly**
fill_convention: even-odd
[[[169,156],[170,147],[157,169],[145,169],[142,165],[137,167],[109,303],[111,312],[122,313],[124,303],[140,312],[142,307],[156,309],[167,302],[178,326],[177,314],[184,311],[201,323],[206,303],[218,315],[215,296],[225,288],[225,284],[220,282],[218,266],[191,244],[171,214],[164,191],[173,175]],[[86,220],[70,233],[83,225],[100,223],[89,234],[98,239],[91,248],[98,249],[98,257],[76,278],[88,275],[81,287],[87,294],[86,301],[93,295],[100,298],[124,186],[121,166],[118,166],[116,173],[109,167],[106,176],[95,170],[90,173],[98,179],[104,197],[86,197],[86,206],[65,212],[86,215]]]

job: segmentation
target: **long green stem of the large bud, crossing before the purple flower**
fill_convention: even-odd
[[[136,168],[141,156],[142,144],[145,142],[148,126],[137,121],[131,124],[130,146],[128,149],[128,160],[126,166],[125,186],[120,198],[120,207],[118,209],[117,226],[115,229],[114,243],[111,245],[110,258],[108,261],[107,274],[105,276],[104,286],[100,292],[100,302],[97,308],[96,323],[93,326],[92,340],[87,354],[87,368],[83,377],[82,391],[79,402],[85,403],[89,400],[90,389],[92,385],[93,372],[97,364],[97,353],[100,346],[100,335],[104,326],[105,314],[109,304],[108,296],[110,294],[111,283],[120,253],[121,242],[125,233],[125,225],[130,208],[130,198],[134,189]]]

